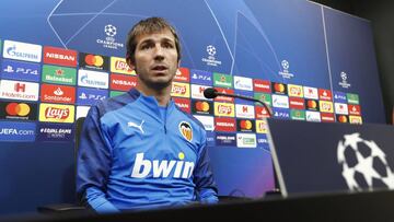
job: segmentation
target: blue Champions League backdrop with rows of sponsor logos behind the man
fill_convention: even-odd
[[[151,15],[179,33],[172,95],[208,132],[220,195],[262,197],[274,188],[268,113],[237,98],[206,100],[206,87],[262,100],[273,118],[385,122],[369,22],[320,4],[48,0],[2,9],[0,201],[9,205],[0,212],[73,200],[74,121],[136,86],[124,42]]]

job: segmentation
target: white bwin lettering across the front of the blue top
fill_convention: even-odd
[[[174,178],[189,178],[193,174],[194,162],[182,161],[185,159],[184,153],[179,153],[181,161],[167,160],[143,160],[143,153],[137,153],[131,177],[144,178],[152,173],[154,178],[166,178],[173,173]]]

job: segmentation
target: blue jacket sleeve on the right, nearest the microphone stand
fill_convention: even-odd
[[[213,173],[210,166],[210,160],[207,151],[207,136],[202,132],[201,148],[197,160],[197,166],[194,171],[194,183],[196,184],[197,200],[202,203],[218,202],[218,188],[213,179]]]

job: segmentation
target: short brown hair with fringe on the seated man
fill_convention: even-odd
[[[169,30],[174,35],[176,51],[177,51],[177,55],[178,55],[177,60],[179,61],[181,60],[181,43],[179,43],[179,38],[178,38],[177,34],[176,34],[175,28],[162,17],[148,17],[146,20],[139,21],[135,26],[132,26],[132,28],[130,30],[130,32],[127,35],[126,59],[130,59],[132,63],[135,62],[135,52],[136,52],[136,47],[137,47],[137,42],[136,42],[137,36],[143,35],[143,34],[152,34],[152,33],[164,31],[164,30]]]

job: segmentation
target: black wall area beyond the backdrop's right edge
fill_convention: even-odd
[[[386,121],[393,122],[394,106],[394,1],[314,0],[333,9],[371,21]]]

